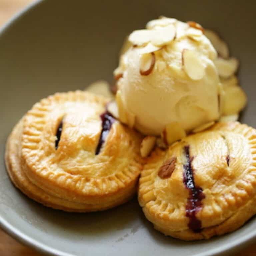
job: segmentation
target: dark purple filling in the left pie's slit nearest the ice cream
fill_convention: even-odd
[[[102,145],[104,144],[106,137],[111,129],[112,124],[116,121],[116,119],[113,117],[111,113],[108,111],[104,112],[100,115],[101,121],[102,121],[102,130],[100,134],[100,139],[96,148],[95,155],[98,155],[100,153],[100,150],[102,148]]]

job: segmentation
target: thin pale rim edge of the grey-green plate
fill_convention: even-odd
[[[15,15],[12,16],[1,28],[0,28],[0,38],[1,36],[11,27],[14,25],[19,18],[21,18],[23,15],[34,9],[36,6],[40,5],[40,3],[45,2],[46,0],[35,0],[34,2],[28,4],[25,8],[18,11]],[[5,162],[5,161],[4,161]],[[249,220],[250,221],[250,220]],[[41,252],[43,254],[47,255],[56,255],[56,256],[75,256],[69,253],[65,253],[63,251],[54,249],[53,247],[47,246],[44,243],[41,243],[32,237],[26,235],[25,233],[22,233],[17,228],[15,228],[11,223],[6,221],[2,216],[0,212],[0,227],[4,232],[6,232],[8,235],[10,235],[15,240],[19,241],[20,243],[29,246],[30,248],[33,248],[34,250]],[[235,231],[234,231],[235,232]],[[235,249],[242,249],[246,245],[249,245],[253,242],[253,240],[256,238],[256,230],[248,233],[247,235],[237,238],[234,241],[229,242],[225,246],[217,247],[210,249],[209,251],[205,253],[199,253],[195,256],[217,256],[223,253],[230,253],[231,251],[234,251]]]

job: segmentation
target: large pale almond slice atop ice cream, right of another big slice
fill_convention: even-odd
[[[155,46],[164,46],[173,41],[175,36],[176,28],[173,24],[170,24],[162,29],[154,30],[154,36],[151,39],[151,43]]]

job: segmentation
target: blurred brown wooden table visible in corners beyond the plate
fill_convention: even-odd
[[[0,0],[0,27],[17,11],[34,0]],[[39,256],[34,250],[16,242],[0,229],[0,256]],[[256,256],[255,245],[251,245],[235,256]]]

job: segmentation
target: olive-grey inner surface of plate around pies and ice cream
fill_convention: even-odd
[[[0,224],[16,239],[52,255],[217,255],[237,251],[256,236],[253,218],[238,231],[183,242],[155,231],[136,198],[90,214],[52,210],[9,181],[5,142],[14,124],[39,99],[112,80],[123,38],[159,15],[196,20],[216,29],[241,60],[249,105],[242,121],[256,127],[255,1],[45,0],[0,32]]]

